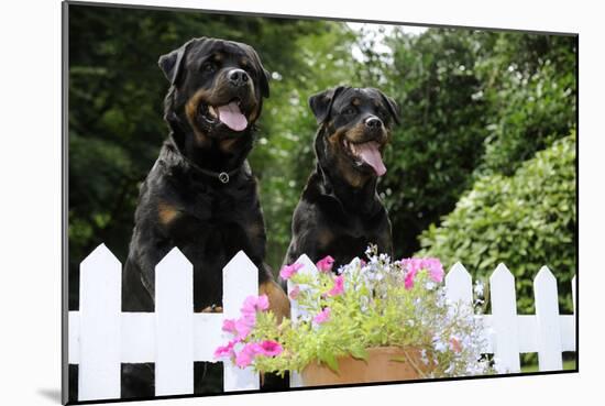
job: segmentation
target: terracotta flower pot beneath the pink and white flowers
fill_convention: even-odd
[[[352,356],[339,358],[338,373],[326,364],[309,364],[301,372],[302,383],[305,386],[322,386],[407,381],[422,378],[427,372],[420,360],[420,351],[416,348],[404,350],[398,347],[375,347],[369,349],[367,353],[365,361]]]

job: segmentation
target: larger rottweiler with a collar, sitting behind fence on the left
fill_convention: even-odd
[[[141,186],[123,311],[154,310],[155,265],[177,246],[194,266],[195,311],[221,310],[222,268],[243,250],[258,267],[260,293],[272,310],[288,315],[289,301],[264,263],[263,212],[246,161],[270,95],[267,70],[250,45],[209,37],[188,41],[158,64],[170,84],[169,135]],[[152,364],[122,369],[122,397],[154,396]],[[205,392],[200,381],[196,393]]]

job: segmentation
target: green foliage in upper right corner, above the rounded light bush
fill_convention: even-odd
[[[576,39],[499,34],[477,66],[487,101],[485,155],[477,175],[510,175],[575,127]]]

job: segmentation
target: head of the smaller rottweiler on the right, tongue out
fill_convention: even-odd
[[[309,105],[320,124],[319,165],[336,169],[355,187],[386,173],[382,153],[393,124],[399,122],[392,98],[374,88],[339,86],[311,96]]]

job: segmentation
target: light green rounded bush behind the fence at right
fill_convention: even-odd
[[[554,142],[514,173],[484,175],[441,227],[421,235],[422,255],[446,266],[462,262],[488,276],[504,262],[516,277],[521,312],[534,312],[532,281],[548,264],[559,282],[561,309],[572,312],[576,268],[575,133]]]

